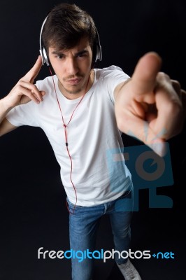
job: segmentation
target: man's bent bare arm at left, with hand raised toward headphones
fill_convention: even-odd
[[[39,91],[34,85],[34,79],[38,75],[41,66],[41,56],[39,56],[27,74],[18,81],[6,97],[0,100],[0,137],[16,128],[6,119],[6,115],[11,109],[20,104],[26,104],[31,100],[36,104],[43,101],[45,92]]]

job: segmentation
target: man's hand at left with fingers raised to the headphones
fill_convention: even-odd
[[[4,97],[3,103],[6,104],[6,107],[13,108],[17,105],[26,104],[31,100],[37,104],[43,101],[45,92],[39,91],[36,85],[34,85],[34,79],[38,76],[41,66],[42,60],[41,55],[39,55],[34,66],[18,81],[10,93]]]

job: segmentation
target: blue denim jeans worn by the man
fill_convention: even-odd
[[[110,224],[113,232],[113,241],[115,250],[129,251],[130,246],[130,223],[133,209],[133,189],[130,193],[122,195],[113,202],[100,204],[93,207],[76,206],[69,202],[69,233],[70,246],[73,251],[90,252],[95,250],[96,231],[99,226],[101,216],[109,214]],[[117,207],[115,207],[117,205]],[[119,207],[118,207],[119,206]],[[72,214],[73,213],[73,214]],[[124,263],[127,260],[118,259],[117,263]],[[91,280],[94,268],[94,259],[85,258],[82,262],[78,258],[71,258],[72,279],[73,280]]]

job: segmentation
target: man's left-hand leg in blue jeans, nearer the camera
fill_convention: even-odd
[[[69,202],[69,211],[73,212],[73,207]],[[94,259],[83,258],[82,252],[87,249],[91,252],[95,250],[96,230],[102,214],[101,207],[76,206],[73,214],[69,216],[71,250],[78,251],[78,258],[71,259],[73,280],[92,279]]]

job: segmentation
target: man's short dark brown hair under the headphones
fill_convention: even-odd
[[[94,52],[96,27],[92,17],[75,4],[60,3],[50,10],[42,32],[45,49],[69,50],[87,37]]]

